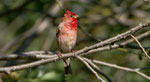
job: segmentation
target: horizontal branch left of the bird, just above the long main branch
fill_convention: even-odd
[[[30,51],[18,54],[0,53],[0,60],[18,60],[18,59],[48,59],[54,57],[50,51]]]

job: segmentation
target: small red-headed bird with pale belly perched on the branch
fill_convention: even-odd
[[[76,15],[76,13],[67,10],[67,13],[64,14],[63,21],[58,25],[56,30],[56,37],[59,46],[59,57],[61,57],[61,52],[71,52],[76,44],[78,22],[77,18],[78,15]],[[63,59],[63,61],[65,75],[72,74],[70,58]]]

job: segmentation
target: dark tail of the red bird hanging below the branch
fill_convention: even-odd
[[[64,59],[63,61],[64,61],[64,68],[65,68],[65,75],[72,74],[70,58]]]

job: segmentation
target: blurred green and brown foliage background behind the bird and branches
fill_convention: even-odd
[[[113,37],[128,29],[150,21],[150,3],[144,0],[60,0],[65,9],[77,13],[79,24],[100,40]],[[55,30],[62,21],[63,10],[55,0],[0,0],[0,51],[18,53],[25,51],[58,51]],[[136,33],[143,33],[148,28]],[[141,40],[150,46],[150,38]],[[78,29],[76,49],[82,49],[98,41]],[[12,44],[13,45],[10,45]],[[137,45],[132,43],[132,45]],[[149,66],[141,50],[113,49],[88,55],[88,58],[130,68]],[[140,57],[140,58],[139,58]],[[19,64],[23,61],[17,61]],[[1,62],[0,66],[8,63]],[[4,82],[98,82],[77,59],[71,60],[73,75],[64,78],[63,62],[58,61],[38,67],[1,75]],[[149,82],[147,79],[122,70],[100,66],[113,82]],[[150,75],[150,70],[142,71]]]

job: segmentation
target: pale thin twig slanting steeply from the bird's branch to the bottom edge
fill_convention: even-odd
[[[76,56],[82,63],[84,63],[87,68],[89,68],[91,70],[91,72],[93,72],[95,74],[95,76],[102,82],[106,82],[105,80],[103,80],[99,75],[98,73],[80,56]]]

